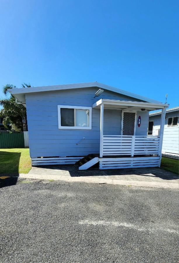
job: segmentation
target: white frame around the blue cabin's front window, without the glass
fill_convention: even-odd
[[[89,110],[89,127],[80,127],[80,126],[61,126],[61,113],[60,109],[79,109],[79,110]],[[75,118],[75,114],[74,114]],[[78,130],[91,130],[92,128],[92,108],[91,107],[82,107],[82,106],[67,106],[67,105],[58,105],[58,129],[78,129]]]

